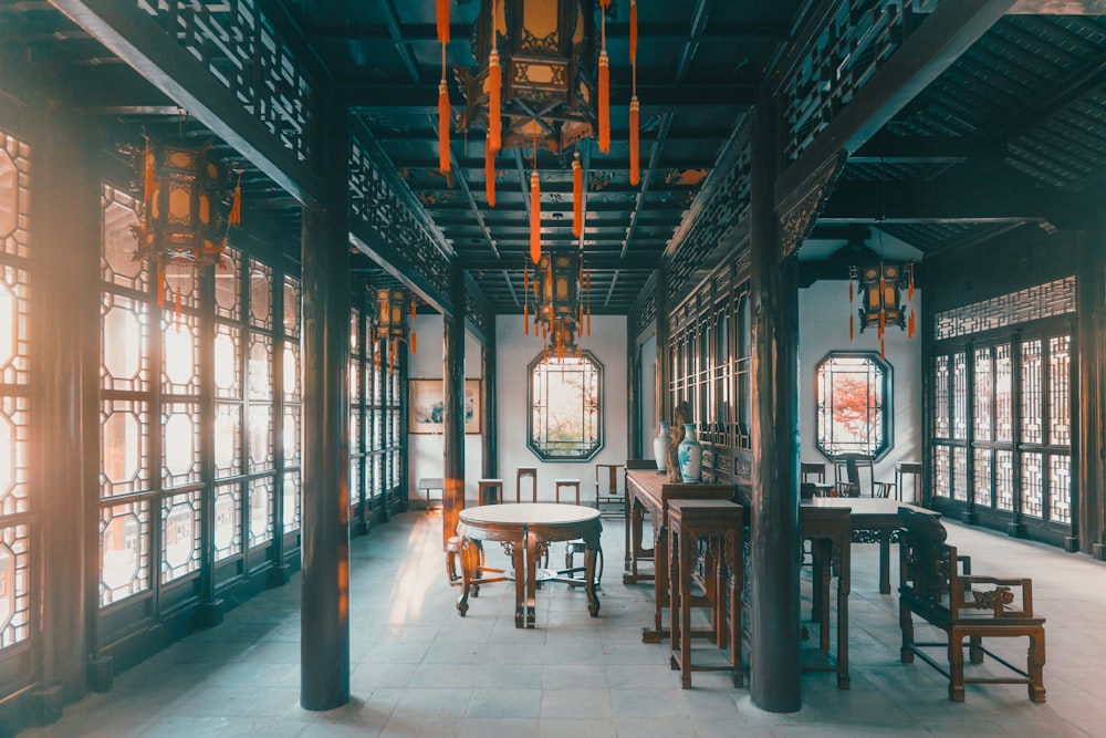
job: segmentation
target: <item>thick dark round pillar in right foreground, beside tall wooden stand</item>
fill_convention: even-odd
[[[752,123],[752,511],[750,694],[771,713],[802,707],[799,596],[799,288],[795,258],[780,260],[774,208],[774,106]]]

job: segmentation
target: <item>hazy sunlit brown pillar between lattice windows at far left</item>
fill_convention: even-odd
[[[32,454],[41,471],[35,512],[41,539],[32,557],[42,579],[33,590],[42,616],[42,678],[36,719],[61,717],[86,692],[100,580],[98,407],[100,181],[90,170],[94,146],[72,111],[48,114],[34,149],[31,190],[35,274]],[[73,115],[74,117],[70,117]],[[90,630],[92,628],[92,630]]]

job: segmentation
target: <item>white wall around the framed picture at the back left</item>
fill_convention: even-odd
[[[442,358],[445,321],[441,315],[419,315],[415,321],[418,333],[418,353],[409,356],[408,376],[411,380],[440,380],[442,377]],[[472,336],[465,335],[465,378],[478,380],[480,376],[480,343]],[[481,392],[483,385],[481,384]],[[416,488],[420,477],[441,477],[445,462],[442,458],[442,438],[440,434],[407,436],[407,497],[411,506],[424,505],[426,492]],[[481,441],[479,435],[465,436],[465,497],[468,500],[477,498],[477,479],[481,471]],[[437,496],[435,496],[437,500]]]

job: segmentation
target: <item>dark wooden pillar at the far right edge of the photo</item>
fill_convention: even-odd
[[[1093,233],[1079,239],[1079,270],[1076,279],[1076,346],[1078,349],[1078,395],[1075,398],[1075,516],[1073,538],[1067,549],[1079,549],[1099,561],[1106,560],[1106,501],[1102,490],[1102,323],[1103,258],[1106,219],[1096,219]]]

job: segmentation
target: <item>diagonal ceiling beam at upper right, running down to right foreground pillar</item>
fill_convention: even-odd
[[[844,149],[853,154],[956,62],[1015,0],[942,2],[776,180],[781,202]]]

